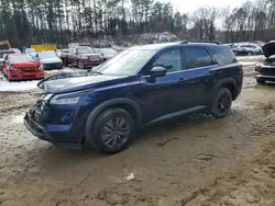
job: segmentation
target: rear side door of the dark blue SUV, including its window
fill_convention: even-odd
[[[191,106],[209,104],[211,88],[215,83],[213,68],[218,62],[202,46],[187,46],[184,48],[185,70],[188,76],[188,88],[193,91]],[[219,72],[219,71],[218,71]]]

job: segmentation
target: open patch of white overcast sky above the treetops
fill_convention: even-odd
[[[196,11],[202,5],[215,5],[217,8],[223,8],[230,5],[231,8],[241,5],[245,0],[162,0],[165,2],[172,2],[174,9],[182,13],[190,13]]]

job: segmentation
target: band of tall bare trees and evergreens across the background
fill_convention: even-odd
[[[177,9],[156,0],[0,0],[0,41],[14,46],[64,45],[160,32],[223,43],[275,36],[275,0],[246,1],[239,8],[201,7],[194,13]]]

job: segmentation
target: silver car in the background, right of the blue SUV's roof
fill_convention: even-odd
[[[239,44],[232,50],[238,56],[263,55],[262,47],[253,43]]]

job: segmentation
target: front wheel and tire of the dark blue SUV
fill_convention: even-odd
[[[108,108],[96,118],[91,145],[100,152],[124,150],[134,137],[133,117],[122,108]]]

